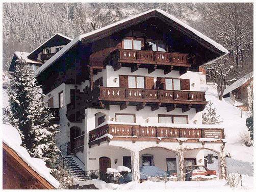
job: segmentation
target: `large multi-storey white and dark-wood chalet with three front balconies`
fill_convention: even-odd
[[[202,124],[198,68],[227,52],[154,9],[75,38],[35,75],[59,109],[63,154],[80,159],[86,175],[126,166],[138,181],[140,168],[156,166],[184,177],[214,153],[221,178],[224,130]]]

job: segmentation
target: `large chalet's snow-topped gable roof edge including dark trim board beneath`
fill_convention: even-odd
[[[228,51],[223,46],[221,46],[217,42],[213,41],[209,37],[203,35],[199,31],[197,31],[196,29],[190,27],[189,25],[187,25],[183,21],[178,20],[176,17],[166,13],[165,11],[163,11],[161,9],[152,9],[152,10],[146,11],[144,13],[138,14],[136,16],[123,19],[121,21],[115,22],[113,24],[107,25],[105,27],[102,27],[102,28],[96,29],[94,31],[91,31],[91,32],[89,32],[87,34],[80,35],[80,36],[76,37],[73,41],[71,41],[69,44],[67,44],[63,49],[61,49],[53,57],[51,57],[49,60],[47,60],[44,63],[44,65],[41,66],[35,72],[35,75],[38,76],[41,72],[43,72],[46,68],[48,68],[50,65],[52,65],[52,63],[54,63],[56,60],[58,60],[63,54],[65,54],[68,50],[70,50],[73,46],[78,44],[80,41],[90,39],[90,38],[92,38],[95,35],[99,35],[100,33],[104,33],[104,32],[106,33],[107,31],[111,30],[112,28],[117,28],[118,29],[119,26],[124,25],[124,24],[126,24],[128,22],[131,22],[133,20],[139,19],[142,16],[147,16],[147,14],[150,14],[150,13],[151,14],[160,14],[162,16],[165,16],[167,19],[169,19],[171,21],[174,21],[175,23],[180,25],[180,27],[182,27],[183,29],[186,29],[186,30],[190,31],[191,34],[195,35],[196,37],[200,38],[202,41],[207,42],[209,45],[213,46],[214,48],[216,48],[217,50],[222,52],[221,56],[219,56],[218,58],[215,58],[214,60],[217,60],[220,57],[222,57],[222,56],[224,56],[225,54],[228,53]],[[212,60],[210,62],[213,62],[214,60]]]

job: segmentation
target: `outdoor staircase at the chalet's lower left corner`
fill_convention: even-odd
[[[71,176],[79,181],[85,180],[85,171],[80,167],[78,160],[72,155],[62,156],[63,167],[69,172]],[[82,163],[82,162],[81,162]]]

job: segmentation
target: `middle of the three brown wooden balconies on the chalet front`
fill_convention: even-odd
[[[169,112],[180,107],[183,112],[190,108],[199,112],[207,105],[204,95],[205,92],[202,91],[97,87],[93,97],[101,102],[101,107],[109,104],[120,105],[120,110],[132,105],[136,106],[137,110],[150,106],[152,111],[166,107]]]

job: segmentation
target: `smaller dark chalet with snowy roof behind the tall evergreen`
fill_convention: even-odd
[[[31,69],[33,71],[36,71],[39,67],[43,65],[43,63],[45,63],[50,57],[55,55],[70,41],[72,41],[72,39],[63,36],[62,34],[55,34],[53,37],[49,38],[31,53],[22,51],[14,52],[11,65],[9,67],[9,72],[15,71],[15,61],[17,59],[24,59],[27,64],[31,66]]]

